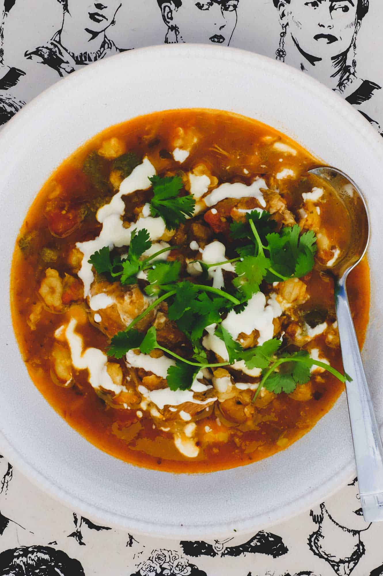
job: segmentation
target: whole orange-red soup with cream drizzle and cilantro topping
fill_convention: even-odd
[[[271,127],[190,109],[108,128],[55,170],[11,305],[70,426],[172,472],[249,464],[312,429],[344,388],[328,271],[351,237],[318,165]],[[361,345],[369,290],[364,260],[348,279]]]

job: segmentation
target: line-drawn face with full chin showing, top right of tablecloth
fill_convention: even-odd
[[[279,4],[282,24],[299,50],[313,58],[347,52],[357,30],[358,0],[290,0]]]

